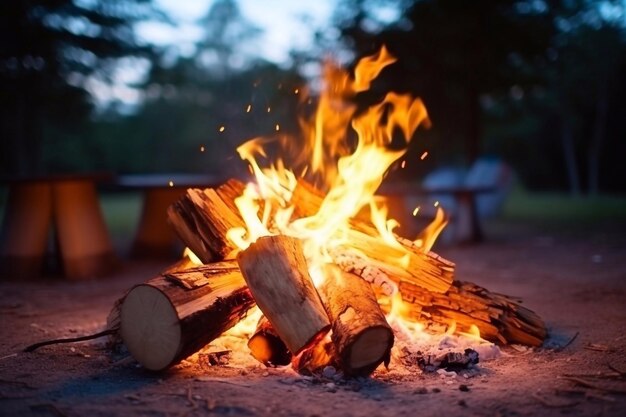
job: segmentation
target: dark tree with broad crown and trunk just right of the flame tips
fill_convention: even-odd
[[[532,67],[553,30],[541,2],[399,2],[401,18],[374,30],[371,3],[351,2],[361,10],[340,23],[344,39],[357,55],[386,44],[398,62],[382,74],[385,88],[423,97],[442,142],[461,142],[473,161],[481,152],[481,98],[537,81]]]

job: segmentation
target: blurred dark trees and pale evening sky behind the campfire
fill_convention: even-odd
[[[297,130],[324,57],[383,44],[357,101],[409,92],[432,120],[394,176],[487,158],[523,187],[510,215],[626,211],[623,0],[4,1],[0,175],[237,173],[237,145]]]

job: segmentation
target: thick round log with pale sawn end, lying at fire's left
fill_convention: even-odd
[[[252,306],[234,261],[174,270],[135,286],[121,300],[119,333],[141,365],[160,371],[220,336]]]

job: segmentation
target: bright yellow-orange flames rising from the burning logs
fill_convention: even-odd
[[[244,250],[259,237],[273,234],[298,237],[309,272],[319,285],[324,279],[334,279],[324,272],[324,265],[332,263],[333,250],[346,243],[350,220],[368,212],[379,234],[376,238],[389,249],[385,261],[399,268],[407,265],[409,252],[394,234],[398,222],[388,218],[384,199],[375,193],[390,167],[405,155],[417,128],[430,126],[428,113],[422,100],[409,94],[387,93],[380,102],[358,113],[352,101],[393,62],[395,58],[382,47],[360,60],[351,76],[327,60],[315,112],[299,119],[300,137],[278,133],[276,125],[276,136],[254,138],[239,146],[237,152],[248,163],[255,181],[235,200],[246,224],[228,232],[237,247]],[[294,92],[300,103],[312,103],[308,89]],[[426,155],[424,152],[421,159]],[[401,165],[404,167],[406,160]],[[291,198],[298,184],[295,172],[326,192],[318,211],[309,217],[293,219]],[[429,251],[446,223],[443,210],[438,208],[433,223],[417,237],[417,247]],[[390,320],[409,333],[420,332],[419,324],[405,319],[408,308],[397,289],[391,298]]]

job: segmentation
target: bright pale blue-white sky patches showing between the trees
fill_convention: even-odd
[[[174,24],[142,22],[136,27],[137,35],[146,42],[174,47],[178,54],[190,56],[203,34],[197,21],[206,15],[214,1],[154,0]],[[262,30],[247,49],[268,61],[287,63],[290,50],[304,50],[312,45],[315,30],[328,25],[336,3],[334,0],[237,0],[243,17]],[[116,100],[128,106],[121,111],[132,112],[142,100],[141,91],[132,85],[141,82],[149,68],[145,60],[126,59],[116,70],[112,85],[94,79],[90,80],[88,89],[102,108]]]

